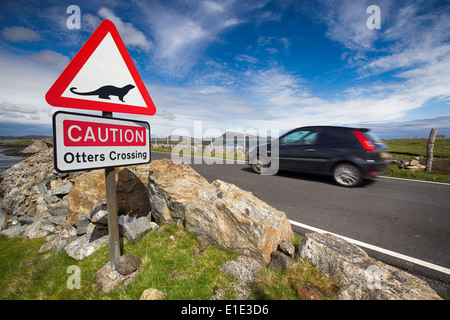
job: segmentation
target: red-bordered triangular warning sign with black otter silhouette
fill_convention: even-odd
[[[55,107],[154,115],[144,82],[114,24],[103,20],[45,95]]]

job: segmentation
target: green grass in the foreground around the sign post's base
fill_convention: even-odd
[[[236,253],[202,247],[182,226],[166,225],[160,230],[147,233],[136,244],[124,241],[122,254],[134,254],[143,264],[131,284],[109,293],[103,293],[94,279],[109,261],[108,246],[77,261],[64,250],[38,253],[42,239],[1,238],[0,299],[136,300],[148,288],[163,291],[167,300],[210,300],[217,289],[224,292],[223,299],[236,298],[237,280],[220,271],[226,261],[237,258]],[[194,255],[193,248],[200,254]],[[67,273],[71,265],[81,270],[81,289],[67,287],[73,275]],[[263,268],[249,299],[298,299],[297,284],[323,287],[328,283],[315,266],[298,258],[282,273]]]

